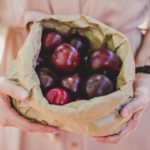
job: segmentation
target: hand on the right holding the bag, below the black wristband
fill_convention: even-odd
[[[120,111],[122,117],[131,115],[132,118],[128,121],[126,127],[118,134],[105,137],[94,137],[101,143],[118,143],[125,138],[129,133],[134,131],[143,114],[144,109],[150,101],[150,75],[139,73],[136,75],[134,82],[134,98],[130,103],[125,105]]]

